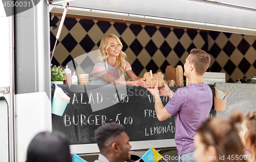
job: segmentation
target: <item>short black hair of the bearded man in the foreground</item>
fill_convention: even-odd
[[[105,124],[94,131],[95,141],[99,150],[108,147],[111,142],[124,131],[124,127],[117,123]]]

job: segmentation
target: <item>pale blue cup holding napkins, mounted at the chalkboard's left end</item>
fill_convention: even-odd
[[[53,97],[52,113],[62,117],[67,105],[68,105],[68,101],[60,100],[60,99]]]

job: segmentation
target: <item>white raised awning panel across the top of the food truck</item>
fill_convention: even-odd
[[[245,0],[249,3],[249,0]],[[50,4],[49,11],[63,7]],[[120,1],[113,4],[83,0],[72,2],[67,14],[146,22],[159,25],[256,35],[256,7],[209,1],[151,0]]]

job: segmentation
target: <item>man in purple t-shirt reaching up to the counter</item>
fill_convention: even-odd
[[[210,64],[210,56],[203,50],[192,49],[184,63],[184,76],[190,83],[177,89],[174,93],[165,84],[164,87],[147,90],[155,97],[155,110],[159,121],[175,115],[175,143],[179,161],[195,161],[193,152],[194,135],[200,124],[208,118],[212,106],[212,91],[203,83],[203,74]],[[170,101],[163,106],[160,96],[169,97]]]

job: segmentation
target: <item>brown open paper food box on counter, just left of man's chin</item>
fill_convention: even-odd
[[[168,65],[165,68],[165,79],[168,86],[184,86],[182,66],[177,65],[174,68],[172,65]]]

